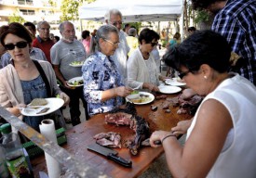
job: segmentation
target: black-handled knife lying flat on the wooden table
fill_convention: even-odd
[[[87,147],[88,147],[88,150],[92,150],[92,151],[95,151],[97,153],[100,153],[101,155],[107,157],[107,159],[112,159],[116,163],[118,163],[122,166],[125,166],[127,168],[131,168],[131,166],[132,166],[131,160],[123,159],[121,157],[118,157],[117,156],[118,153],[113,149],[109,149],[109,148],[106,148],[104,146],[100,146],[99,144],[92,144],[92,145],[89,145]]]

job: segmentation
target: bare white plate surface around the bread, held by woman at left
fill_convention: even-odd
[[[34,109],[34,112],[33,111],[26,112],[25,111],[26,108],[22,108],[20,111],[21,114],[24,116],[44,116],[61,108],[64,104],[63,99],[58,97],[49,97],[49,98],[46,98],[46,100],[47,100],[47,105],[45,105],[43,108],[49,108],[47,112],[36,114],[36,112],[38,112],[36,109]]]

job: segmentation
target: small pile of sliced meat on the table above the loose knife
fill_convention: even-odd
[[[121,135],[114,132],[96,134],[93,138],[96,139],[96,143],[101,146],[122,147]]]

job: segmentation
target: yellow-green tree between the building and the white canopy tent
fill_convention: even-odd
[[[79,19],[78,7],[83,5],[83,2],[91,3],[95,0],[62,0],[61,1],[61,20],[77,20]],[[49,0],[52,2],[52,0]]]

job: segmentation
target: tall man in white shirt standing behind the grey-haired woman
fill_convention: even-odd
[[[125,83],[127,81],[127,60],[129,47],[125,32],[121,31],[123,23],[122,19],[123,16],[117,9],[111,9],[105,14],[106,24],[114,25],[119,31],[119,46],[115,50],[113,58],[115,60],[115,65],[123,78],[122,82]]]

